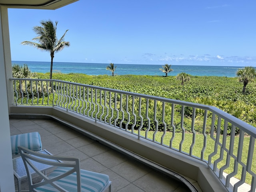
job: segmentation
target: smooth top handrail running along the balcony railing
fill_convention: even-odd
[[[157,100],[157,101],[161,101],[161,102],[168,102],[168,103],[188,106],[188,107],[192,107],[192,108],[200,108],[200,109],[204,109],[204,110],[209,110],[210,112],[220,116],[224,120],[227,120],[234,126],[240,128],[247,134],[250,134],[252,137],[256,138],[256,128],[254,126],[251,126],[250,124],[248,124],[248,123],[246,123],[246,122],[244,122],[244,121],[242,121],[242,120],[240,120],[240,119],[238,119],[238,118],[236,118],[236,117],[234,117],[216,107],[213,107],[213,106],[197,104],[197,103],[192,103],[192,102],[186,102],[186,101],[180,101],[180,100],[174,100],[174,99],[163,98],[163,97],[152,96],[152,95],[146,95],[146,94],[140,94],[140,93],[134,93],[134,92],[128,92],[128,91],[122,91],[122,90],[116,90],[116,89],[110,89],[110,88],[104,88],[104,87],[98,87],[98,86],[87,85],[87,84],[80,84],[80,83],[75,83],[75,82],[68,82],[68,81],[63,81],[63,80],[27,79],[27,78],[10,78],[10,80],[34,80],[34,81],[52,81],[52,82],[67,83],[67,84],[72,84],[72,85],[85,86],[88,88],[94,88],[97,90],[116,92],[116,93],[120,93],[120,94],[127,94],[130,96],[137,96],[137,97]]]

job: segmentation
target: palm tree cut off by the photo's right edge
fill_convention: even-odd
[[[253,67],[245,67],[242,69],[239,69],[236,72],[236,75],[239,76],[239,81],[244,83],[243,91],[245,92],[246,85],[248,82],[252,81],[256,77],[256,71]]]

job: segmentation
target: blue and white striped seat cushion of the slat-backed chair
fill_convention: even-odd
[[[53,178],[64,172],[67,172],[71,168],[68,167],[58,167],[52,173],[48,175],[49,178]],[[109,182],[108,175],[91,172],[87,170],[80,171],[81,173],[81,191],[82,192],[100,192],[106,184]],[[76,184],[76,172],[56,181],[56,184],[60,185],[62,188],[68,192],[77,192]],[[36,188],[38,192],[58,192],[52,185],[47,184]]]

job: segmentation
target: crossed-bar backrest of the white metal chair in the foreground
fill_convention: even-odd
[[[44,186],[46,184],[52,185],[54,188],[58,189],[60,192],[68,192],[55,181],[64,178],[74,172],[76,172],[76,180],[77,180],[77,190],[78,192],[81,191],[81,178],[80,178],[80,165],[79,165],[79,158],[67,158],[61,156],[54,156],[48,154],[41,154],[40,152],[34,152],[27,148],[18,147],[22,160],[24,162],[26,172],[28,174],[28,184],[30,192],[36,192],[35,188]],[[65,161],[65,162],[62,162]],[[42,173],[44,170],[40,170],[42,164],[50,165],[50,166],[60,166],[60,167],[68,167],[70,170],[55,176],[54,178],[48,178],[47,175]],[[34,183],[32,182],[32,174],[36,174],[42,178],[42,181]]]

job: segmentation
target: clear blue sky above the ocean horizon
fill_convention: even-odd
[[[255,0],[80,0],[58,10],[8,9],[13,61],[49,61],[20,43],[58,21],[70,47],[55,62],[256,66]]]

